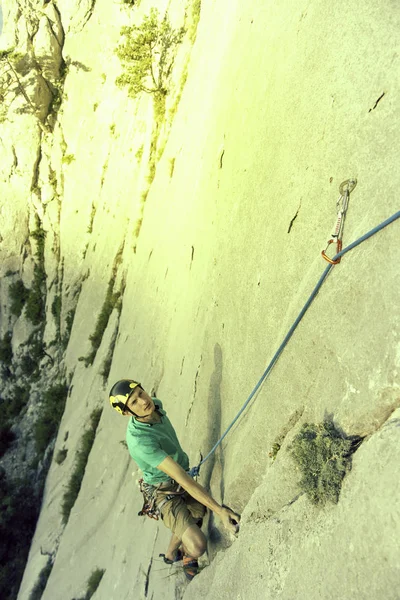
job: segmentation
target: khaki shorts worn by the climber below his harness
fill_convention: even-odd
[[[170,489],[175,491],[176,484],[172,485]],[[159,506],[164,499],[165,494],[158,493],[156,506]],[[181,540],[186,529],[191,525],[196,525],[204,517],[206,510],[203,504],[185,492],[180,496],[175,496],[161,507],[161,518],[164,525]]]

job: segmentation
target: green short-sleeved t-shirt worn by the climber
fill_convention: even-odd
[[[170,479],[166,473],[157,469],[164,458],[170,456],[185,471],[189,468],[189,458],[181,448],[161,400],[153,398],[153,402],[161,415],[161,422],[141,423],[131,417],[126,431],[126,442],[129,454],[143,471],[144,481],[158,485]]]

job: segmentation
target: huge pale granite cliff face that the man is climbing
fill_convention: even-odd
[[[115,86],[121,26],[156,4],[188,32],[159,128],[151,98],[133,101]],[[190,5],[3,1],[1,48],[22,53],[18,72],[37,110],[19,114],[19,96],[0,124],[0,335],[12,332],[14,353],[2,397],[24,378],[39,329],[46,354],[21,431],[43,390],[60,378],[70,386],[55,442],[68,454],[50,467],[18,598],[29,599],[50,556],[43,600],[83,596],[95,569],[106,570],[96,592],[104,600],[395,599],[398,221],[334,267],[204,465],[200,482],[242,513],[242,526],[233,538],[210,516],[211,562],[189,586],[179,569],[157,563],[169,534],[136,516],[126,422],[108,407],[62,524],[80,440],[115,379],[137,377],[157,390],[195,464],[321,276],[342,181],[358,181],[344,245],[398,210],[394,6],[203,2],[192,45]],[[9,293],[19,279],[31,288],[39,263],[42,328],[26,311],[12,314]],[[110,294],[121,302],[85,366]],[[321,509],[299,495],[288,449],[304,422],[326,418],[364,441],[338,504]]]

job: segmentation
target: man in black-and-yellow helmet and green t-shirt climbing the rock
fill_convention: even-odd
[[[186,577],[198,572],[197,559],[206,551],[201,531],[206,508],[218,515],[232,533],[239,530],[240,517],[221,506],[190,475],[189,459],[157,398],[151,398],[140,383],[122,379],[110,391],[111,406],[129,417],[126,441],[131,457],[143,471],[144,512],[161,515],[172,538],[163,556],[172,564],[182,559]]]

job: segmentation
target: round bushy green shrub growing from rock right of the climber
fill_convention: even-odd
[[[296,435],[290,452],[302,473],[300,488],[313,504],[338,502],[353,444],[329,421],[305,423]]]

